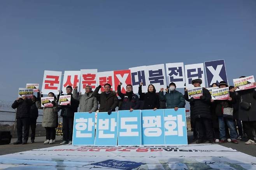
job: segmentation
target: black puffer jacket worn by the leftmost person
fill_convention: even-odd
[[[19,99],[19,101],[14,101],[12,108],[16,109],[16,119],[18,118],[29,118],[30,116],[30,106],[32,105],[31,99]]]

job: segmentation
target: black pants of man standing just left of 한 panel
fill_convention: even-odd
[[[63,141],[72,141],[74,117],[63,116],[62,121]]]

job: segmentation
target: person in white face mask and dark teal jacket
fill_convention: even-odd
[[[165,91],[169,92],[163,95],[163,88],[160,89],[159,99],[160,101],[166,102],[167,109],[174,109],[177,111],[179,108],[185,108],[185,99],[182,93],[178,92],[175,83],[169,84],[169,89],[166,88]]]

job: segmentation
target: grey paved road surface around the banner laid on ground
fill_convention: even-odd
[[[44,148],[44,147],[59,146],[60,142],[62,142],[61,138],[62,138],[61,136],[57,136],[55,144],[44,144],[45,137],[36,137],[35,143],[33,143],[33,144],[28,143],[26,145],[21,145],[21,144],[13,145],[12,143],[17,140],[16,138],[13,138],[11,141],[11,144],[0,145],[0,155],[22,152],[22,151],[29,151],[32,149],[39,149],[39,148]],[[188,132],[189,144],[195,144],[195,141],[192,141],[192,139],[193,139],[192,132]],[[225,146],[225,147],[231,147],[232,149],[235,149],[237,151],[240,151],[240,152],[243,152],[243,153],[246,153],[246,154],[256,157],[256,145],[255,144],[245,145],[244,142],[247,141],[246,139],[242,139],[242,140],[238,140],[238,141],[239,141],[239,144],[233,144],[231,142],[227,142],[225,144],[220,144],[220,145]],[[29,140],[29,142],[30,142],[30,140]],[[205,143],[207,143],[207,142],[205,142]]]

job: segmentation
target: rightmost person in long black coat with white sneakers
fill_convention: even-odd
[[[244,78],[241,76],[240,78]],[[256,85],[256,82],[253,83]],[[236,90],[237,87],[234,87]],[[256,132],[256,88],[239,90],[236,92],[238,99],[238,119],[242,120],[248,141],[245,144],[255,144],[253,130]]]

